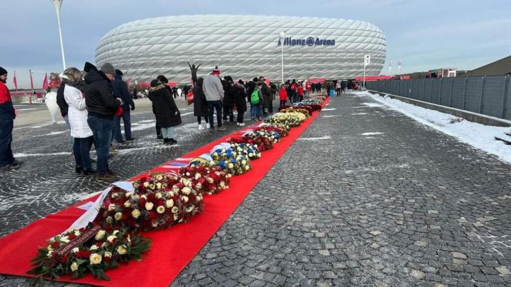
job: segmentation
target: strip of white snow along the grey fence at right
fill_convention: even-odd
[[[382,98],[378,94],[371,94],[367,91],[356,92],[356,94],[363,98],[370,97],[423,125],[454,136],[476,149],[496,155],[501,160],[511,163],[511,146],[505,145],[500,140],[495,140],[495,136],[505,136],[504,132],[509,131],[509,128],[486,126],[467,120],[458,121],[458,117],[448,113],[418,107],[389,97]]]

